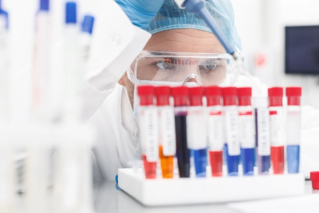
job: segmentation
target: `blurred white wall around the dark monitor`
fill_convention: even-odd
[[[270,86],[302,86],[303,104],[319,108],[319,76],[284,73],[285,26],[319,25],[318,0],[232,0],[246,64],[256,74],[254,56],[265,53],[271,64],[260,69]],[[258,70],[258,69],[257,69]]]

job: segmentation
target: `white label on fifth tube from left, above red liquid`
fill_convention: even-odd
[[[210,112],[208,118],[208,141],[211,150],[223,149],[223,117],[221,111]]]

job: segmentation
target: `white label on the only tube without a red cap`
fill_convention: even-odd
[[[258,154],[270,155],[269,110],[266,107],[257,109]]]

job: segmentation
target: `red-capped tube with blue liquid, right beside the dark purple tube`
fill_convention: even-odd
[[[193,150],[196,177],[206,177],[207,129],[203,108],[203,88],[189,91],[190,106],[187,109],[187,147]]]

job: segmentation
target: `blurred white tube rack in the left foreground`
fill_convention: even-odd
[[[1,126],[0,180],[6,187],[0,191],[0,212],[92,213],[94,138],[94,130],[83,124]],[[17,150],[23,156],[17,156]],[[54,168],[52,151],[56,153]],[[24,161],[22,196],[16,191],[17,158]]]

